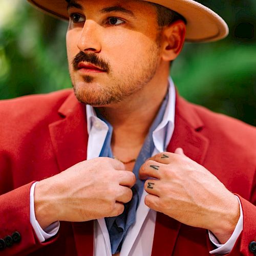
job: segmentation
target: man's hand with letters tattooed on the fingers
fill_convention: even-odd
[[[181,148],[175,153],[157,154],[141,166],[141,179],[157,179],[145,182],[145,204],[186,225],[208,229],[225,243],[240,216],[236,196]]]

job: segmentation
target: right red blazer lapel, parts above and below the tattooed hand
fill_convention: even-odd
[[[199,164],[204,163],[208,140],[200,134],[203,122],[193,109],[193,105],[176,94],[175,129],[167,147],[174,152],[182,147],[184,154]],[[161,212],[157,212],[152,256],[172,255],[181,223]]]

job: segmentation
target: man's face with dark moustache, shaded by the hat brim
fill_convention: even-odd
[[[144,88],[160,61],[155,8],[143,1],[80,0],[68,7],[69,71],[76,97],[118,103]]]

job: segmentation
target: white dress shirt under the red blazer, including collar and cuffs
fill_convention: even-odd
[[[99,119],[92,106],[86,106],[87,111],[87,124],[88,124],[88,147],[87,147],[87,160],[93,159],[99,156],[101,148],[103,146],[106,134],[108,133],[108,125]],[[175,119],[175,86],[173,80],[169,78],[169,98],[166,106],[166,110],[163,116],[163,120],[153,132],[153,141],[155,150],[153,155],[160,152],[164,152],[166,147],[172,138],[174,131],[174,119]],[[164,141],[165,133],[167,129],[166,141]],[[86,131],[84,131],[86,132]],[[40,242],[54,236],[59,229],[59,222],[55,222],[42,230],[39,223],[35,218],[34,212],[34,183],[30,190],[30,222],[35,230],[35,233]],[[126,233],[126,237],[123,241],[120,256],[132,256],[132,255],[151,255],[154,231],[156,224],[157,212],[148,208],[144,204],[144,197],[146,196],[145,190],[138,209],[136,211],[136,222],[129,228]],[[238,198],[238,197],[237,197]],[[219,244],[214,235],[208,231],[210,241],[217,247],[210,253],[226,254],[229,253],[240,233],[243,230],[243,211],[240,200],[240,218],[237,223],[232,236],[225,244]],[[94,221],[94,255],[95,256],[111,256],[111,244],[108,229],[106,228],[104,218]]]

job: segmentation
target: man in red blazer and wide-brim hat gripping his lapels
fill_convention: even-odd
[[[224,20],[192,0],[30,2],[69,19],[75,96],[1,102],[0,253],[256,254],[255,129],[168,79]]]

